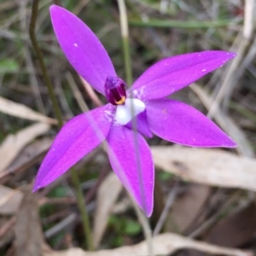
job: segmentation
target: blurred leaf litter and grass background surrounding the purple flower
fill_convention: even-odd
[[[33,27],[32,7],[37,2]],[[146,239],[148,225],[138,218],[102,147],[84,157],[74,169],[94,247],[105,249],[102,254],[85,253],[88,247],[70,172],[36,194],[31,192],[38,167],[58,131],[31,37],[35,36],[42,52],[65,121],[106,102],[79,78],[63,55],[49,18],[53,3],[90,26],[119,77],[125,79],[117,1],[0,0],[0,256],[149,255],[148,243],[154,245],[154,255],[253,255],[255,1],[125,1],[133,79],[167,56],[207,49],[237,54],[172,98],[205,113],[238,147],[185,148],[159,137],[148,139],[156,167],[154,214],[148,220],[154,242]],[[55,252],[59,250],[64,251]]]

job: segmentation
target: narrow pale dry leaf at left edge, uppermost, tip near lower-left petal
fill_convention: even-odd
[[[47,123],[50,125],[56,125],[56,119],[50,119],[47,116],[44,116],[42,113],[38,113],[31,108],[27,108],[25,105],[9,101],[0,96],[0,111],[13,115],[20,119],[29,119],[33,121],[39,121],[42,123]]]

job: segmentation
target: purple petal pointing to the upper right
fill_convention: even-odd
[[[159,99],[222,67],[235,56],[231,52],[209,50],[166,58],[149,67],[131,90],[140,99]]]

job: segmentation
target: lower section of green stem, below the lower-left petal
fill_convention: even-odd
[[[86,211],[84,194],[83,194],[83,190],[80,187],[79,176],[74,169],[71,169],[71,177],[77,193],[79,211],[81,212],[81,215],[82,215],[82,223],[84,226],[84,235],[86,237],[87,247],[90,251],[94,251],[94,245],[93,245],[93,240],[92,240],[91,231],[90,231],[90,219],[89,219],[88,212]]]

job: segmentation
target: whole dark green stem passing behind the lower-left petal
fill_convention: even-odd
[[[39,3],[39,0],[33,0],[32,1],[32,17],[31,17],[30,26],[29,26],[29,34],[30,34],[30,38],[31,38],[31,41],[32,41],[32,46],[33,46],[33,48],[36,52],[40,67],[41,67],[42,72],[43,72],[44,82],[47,85],[50,100],[53,104],[53,107],[54,107],[54,110],[55,110],[55,115],[58,119],[59,127],[61,128],[61,126],[63,124],[62,118],[61,118],[61,110],[58,106],[58,102],[57,102],[57,99],[55,97],[55,92],[53,90],[53,85],[50,82],[49,75],[47,73],[47,69],[44,65],[44,57],[43,57],[43,54],[41,52],[41,49],[38,46],[38,41],[37,41],[36,34],[35,34],[36,21],[37,21],[37,17],[38,17],[38,3]],[[72,176],[74,187],[76,189],[79,211],[81,212],[81,215],[82,215],[82,224],[83,224],[83,227],[84,227],[84,235],[86,237],[86,241],[87,241],[87,244],[88,244],[88,249],[93,250],[93,242],[92,242],[91,232],[90,232],[89,216],[88,216],[88,213],[85,209],[84,195],[83,195],[82,189],[80,188],[79,176],[78,176],[77,172],[75,172],[73,169],[71,169],[71,176]]]

